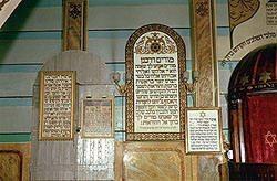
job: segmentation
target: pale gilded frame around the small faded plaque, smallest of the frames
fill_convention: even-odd
[[[89,127],[88,124],[85,124],[85,107],[95,107],[93,105],[90,105],[90,103],[93,102],[100,102],[100,107],[103,106],[101,103],[107,102],[110,104],[110,116],[109,120],[105,120],[110,125],[111,131],[103,131],[103,132],[86,132],[83,128]],[[101,110],[100,110],[101,111]],[[114,119],[114,99],[113,98],[86,98],[82,100],[82,113],[81,113],[81,131],[82,131],[82,138],[112,138],[114,136],[114,128],[113,128],[113,119]]]

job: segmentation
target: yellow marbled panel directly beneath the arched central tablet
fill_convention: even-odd
[[[184,142],[127,142],[123,149],[124,180],[185,179]]]

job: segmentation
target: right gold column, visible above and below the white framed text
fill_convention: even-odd
[[[193,70],[199,73],[195,94],[196,107],[218,106],[213,11],[213,0],[191,1]],[[205,177],[207,180],[219,178],[216,169],[220,157],[220,155],[192,156],[192,180],[205,180]]]

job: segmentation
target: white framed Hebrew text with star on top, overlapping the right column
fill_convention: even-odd
[[[186,109],[186,153],[222,151],[222,114],[219,107]]]

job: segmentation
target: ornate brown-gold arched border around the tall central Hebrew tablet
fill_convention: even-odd
[[[177,45],[179,132],[135,132],[134,131],[134,45],[145,33],[158,31],[167,34]],[[182,81],[185,71],[185,43],[173,29],[162,24],[148,24],[137,29],[129,39],[125,47],[126,75],[132,77],[126,86],[126,140],[181,140],[185,132],[186,92]]]

